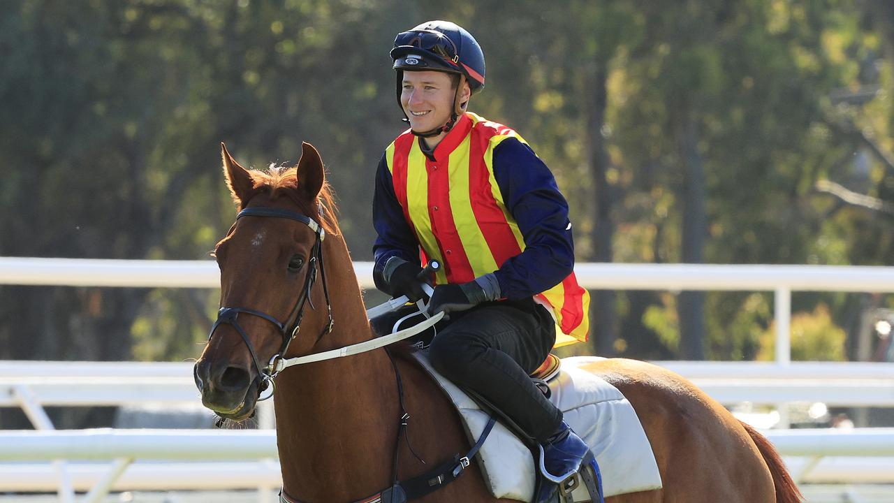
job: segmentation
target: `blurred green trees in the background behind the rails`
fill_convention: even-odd
[[[578,261],[894,265],[883,0],[6,0],[0,256],[210,260],[234,217],[220,142],[262,168],[309,141],[353,258],[371,260],[375,167],[405,127],[388,51],[431,19],[484,48],[470,109],[552,168]],[[217,301],[0,286],[0,360],[182,362]],[[772,292],[593,301],[591,342],[564,354],[773,359]],[[890,361],[891,310],[891,294],[795,293],[792,360],[856,360],[870,337],[870,359]],[[53,415],[84,428],[113,413]]]

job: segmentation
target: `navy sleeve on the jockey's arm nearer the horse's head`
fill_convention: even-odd
[[[403,217],[401,203],[394,194],[394,183],[388,161],[384,155],[375,173],[375,193],[373,194],[373,226],[378,236],[373,244],[373,280],[375,287],[387,293],[382,272],[385,262],[392,257],[400,257],[419,263],[419,245],[416,234]]]

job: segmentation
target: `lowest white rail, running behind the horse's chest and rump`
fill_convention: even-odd
[[[894,482],[894,429],[764,434],[786,456],[799,482]],[[66,476],[76,490],[95,487],[108,471],[106,465],[83,460],[108,459],[127,460],[124,466],[139,460],[110,482],[110,489],[221,490],[279,483],[274,431],[4,431],[0,445],[0,490],[54,489],[60,474],[46,462],[58,458],[73,460]]]

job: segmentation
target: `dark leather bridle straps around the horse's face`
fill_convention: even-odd
[[[291,343],[292,339],[298,336],[298,331],[301,327],[301,318],[304,317],[304,308],[307,304],[310,304],[310,309],[316,309],[316,307],[314,307],[314,301],[310,299],[310,292],[313,289],[314,284],[316,283],[317,264],[320,270],[320,276],[323,278],[323,293],[325,294],[326,308],[329,310],[329,323],[326,324],[325,328],[320,333],[319,337],[316,338],[316,340],[319,341],[321,337],[325,336],[333,329],[333,308],[332,304],[329,302],[329,290],[326,287],[326,272],[323,264],[322,245],[325,238],[325,230],[310,217],[306,217],[304,215],[301,215],[300,213],[295,213],[286,209],[263,207],[246,208],[241,210],[239,214],[236,215],[236,220],[239,220],[241,217],[289,218],[310,227],[310,230],[314,231],[314,234],[316,235],[316,241],[314,242],[314,247],[310,252],[310,259],[308,260],[308,272],[304,278],[304,287],[301,290],[298,301],[295,303],[295,307],[292,308],[291,313],[285,320],[279,321],[276,320],[273,316],[266,314],[266,312],[247,309],[244,307],[222,307],[220,311],[217,311],[217,320],[215,320],[215,324],[211,326],[211,331],[208,333],[208,340],[210,341],[211,337],[215,334],[215,329],[223,324],[231,325],[232,328],[235,328],[236,331],[239,332],[242,340],[245,341],[245,345],[249,348],[251,359],[255,364],[255,370],[257,371],[256,379],[259,380],[257,401],[260,402],[273,396],[272,390],[269,395],[263,398],[260,397],[260,394],[264,390],[266,390],[268,383],[274,383],[274,378],[279,374],[279,371],[277,370],[277,361],[282,360],[283,354],[285,354],[286,350],[289,349],[289,344]],[[240,313],[257,316],[262,320],[267,320],[273,323],[274,327],[279,330],[280,335],[283,337],[283,344],[280,345],[279,351],[277,351],[276,354],[273,355],[273,357],[270,359],[270,362],[267,363],[265,366],[262,366],[260,361],[257,359],[257,353],[255,352],[254,346],[251,344],[249,335],[239,324],[238,319]],[[289,324],[289,320],[292,320],[291,324]]]

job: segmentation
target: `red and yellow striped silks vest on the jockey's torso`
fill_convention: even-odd
[[[386,150],[394,193],[424,259],[444,266],[437,284],[471,281],[525,249],[493,176],[493,149],[507,138],[525,142],[502,124],[466,113],[435,149],[438,162],[426,158],[409,131]],[[574,273],[538,297],[552,307],[563,333],[586,341],[590,296]]]

